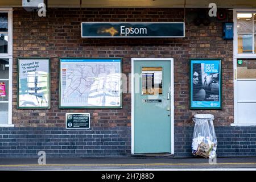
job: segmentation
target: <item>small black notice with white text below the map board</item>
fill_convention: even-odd
[[[89,129],[90,113],[66,113],[66,129]]]

